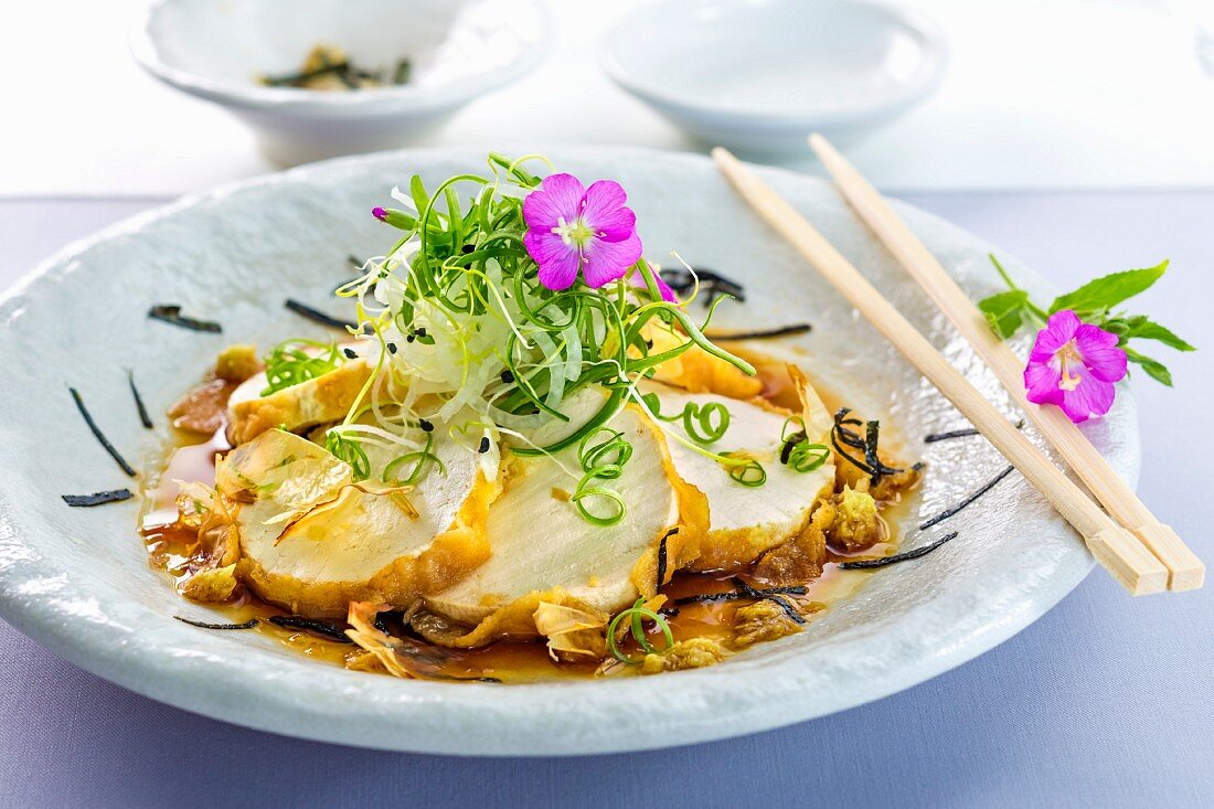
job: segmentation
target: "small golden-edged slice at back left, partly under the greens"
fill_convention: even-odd
[[[363,356],[367,344],[352,344],[359,352],[334,370],[262,396],[266,372],[240,383],[228,398],[228,441],[233,446],[253,441],[266,430],[283,428],[299,432],[318,424],[345,418],[374,370],[374,361]]]

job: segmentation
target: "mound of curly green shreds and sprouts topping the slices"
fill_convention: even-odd
[[[456,175],[432,187],[414,176],[407,188],[392,192],[392,208],[374,210],[399,238],[337,295],[356,301],[358,328],[384,349],[357,405],[378,428],[402,432],[419,412],[448,424],[471,411],[490,431],[522,435],[554,419],[573,422],[569,398],[589,386],[606,389],[597,412],[578,415],[561,440],[514,447],[518,456],[544,456],[579,445],[592,448],[586,441],[625,402],[640,400],[636,383],[693,347],[754,373],[703,334],[719,301],[703,322],[694,322],[687,315],[694,295],[669,300],[673,295],[643,258],[614,279],[591,272],[592,283],[602,282],[597,287],[588,285],[584,272],[565,289],[545,284],[528,251],[532,227],[523,210],[540,186],[524,168],[533,160],[543,158],[490,154],[488,172]],[[580,232],[573,236],[580,238]],[[592,264],[599,254],[586,248],[582,245],[579,260]],[[651,351],[658,330],[674,335],[676,345]],[[354,426],[352,420],[347,417],[346,428]],[[711,440],[724,422],[717,408],[700,408],[687,414],[686,424],[697,440]],[[401,462],[393,471],[403,468]],[[609,477],[601,473],[584,477],[571,499],[591,522],[609,525],[623,516],[624,503],[601,485],[605,480]],[[600,504],[594,514],[590,502]],[[602,504],[611,505],[607,516]]]

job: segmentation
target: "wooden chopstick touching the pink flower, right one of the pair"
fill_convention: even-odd
[[[1028,401],[1025,363],[987,324],[982,312],[953,281],[926,245],[906,226],[881,194],[821,135],[810,136],[810,147],[822,160],[844,198],[906,267],[936,306],[953,322],[983,362],[1020,405],[1038,431],[1066,459],[1108,510],[1129,528],[1168,568],[1168,589],[1192,590],[1206,581],[1206,565],[1169,526],[1159,522],[1133,490],[1114,473],[1066,414],[1056,407]]]

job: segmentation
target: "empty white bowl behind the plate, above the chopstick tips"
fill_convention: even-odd
[[[602,63],[700,140],[785,154],[895,119],[940,84],[947,51],[921,16],[867,0],[669,0],[620,22]]]

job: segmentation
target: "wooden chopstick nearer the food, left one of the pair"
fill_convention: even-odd
[[[1167,589],[1168,568],[1029,443],[796,209],[727,151],[713,149],[713,160],[750,207],[1049,499],[1113,578],[1133,595]]]

